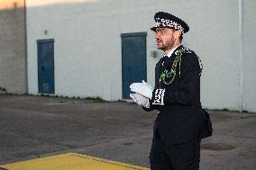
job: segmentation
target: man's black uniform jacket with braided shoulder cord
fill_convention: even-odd
[[[182,48],[184,49],[180,45],[175,49],[163,66],[163,58],[161,58],[155,67],[155,90],[165,89],[164,105],[154,105],[151,101],[149,109],[143,108],[145,111],[159,111],[154,122],[154,138],[158,131],[160,140],[166,144],[187,143],[201,139],[206,120],[200,103],[201,70],[197,55],[193,51],[189,50],[190,52],[182,55],[180,76],[177,75],[170,85],[159,83],[161,71],[172,66],[175,52]]]

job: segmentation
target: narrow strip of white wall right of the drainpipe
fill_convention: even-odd
[[[244,1],[243,11],[243,109],[256,112],[256,1]]]

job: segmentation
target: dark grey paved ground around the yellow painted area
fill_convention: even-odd
[[[256,169],[256,113],[209,111],[200,169]],[[77,152],[150,167],[156,112],[133,103],[0,94],[0,165]]]

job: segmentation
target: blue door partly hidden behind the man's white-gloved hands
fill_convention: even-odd
[[[122,33],[123,99],[130,99],[130,85],[147,80],[147,32]]]

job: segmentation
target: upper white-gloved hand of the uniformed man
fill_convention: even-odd
[[[131,91],[137,94],[142,94],[144,97],[149,99],[152,98],[153,88],[142,80],[142,83],[133,83],[130,85]]]

